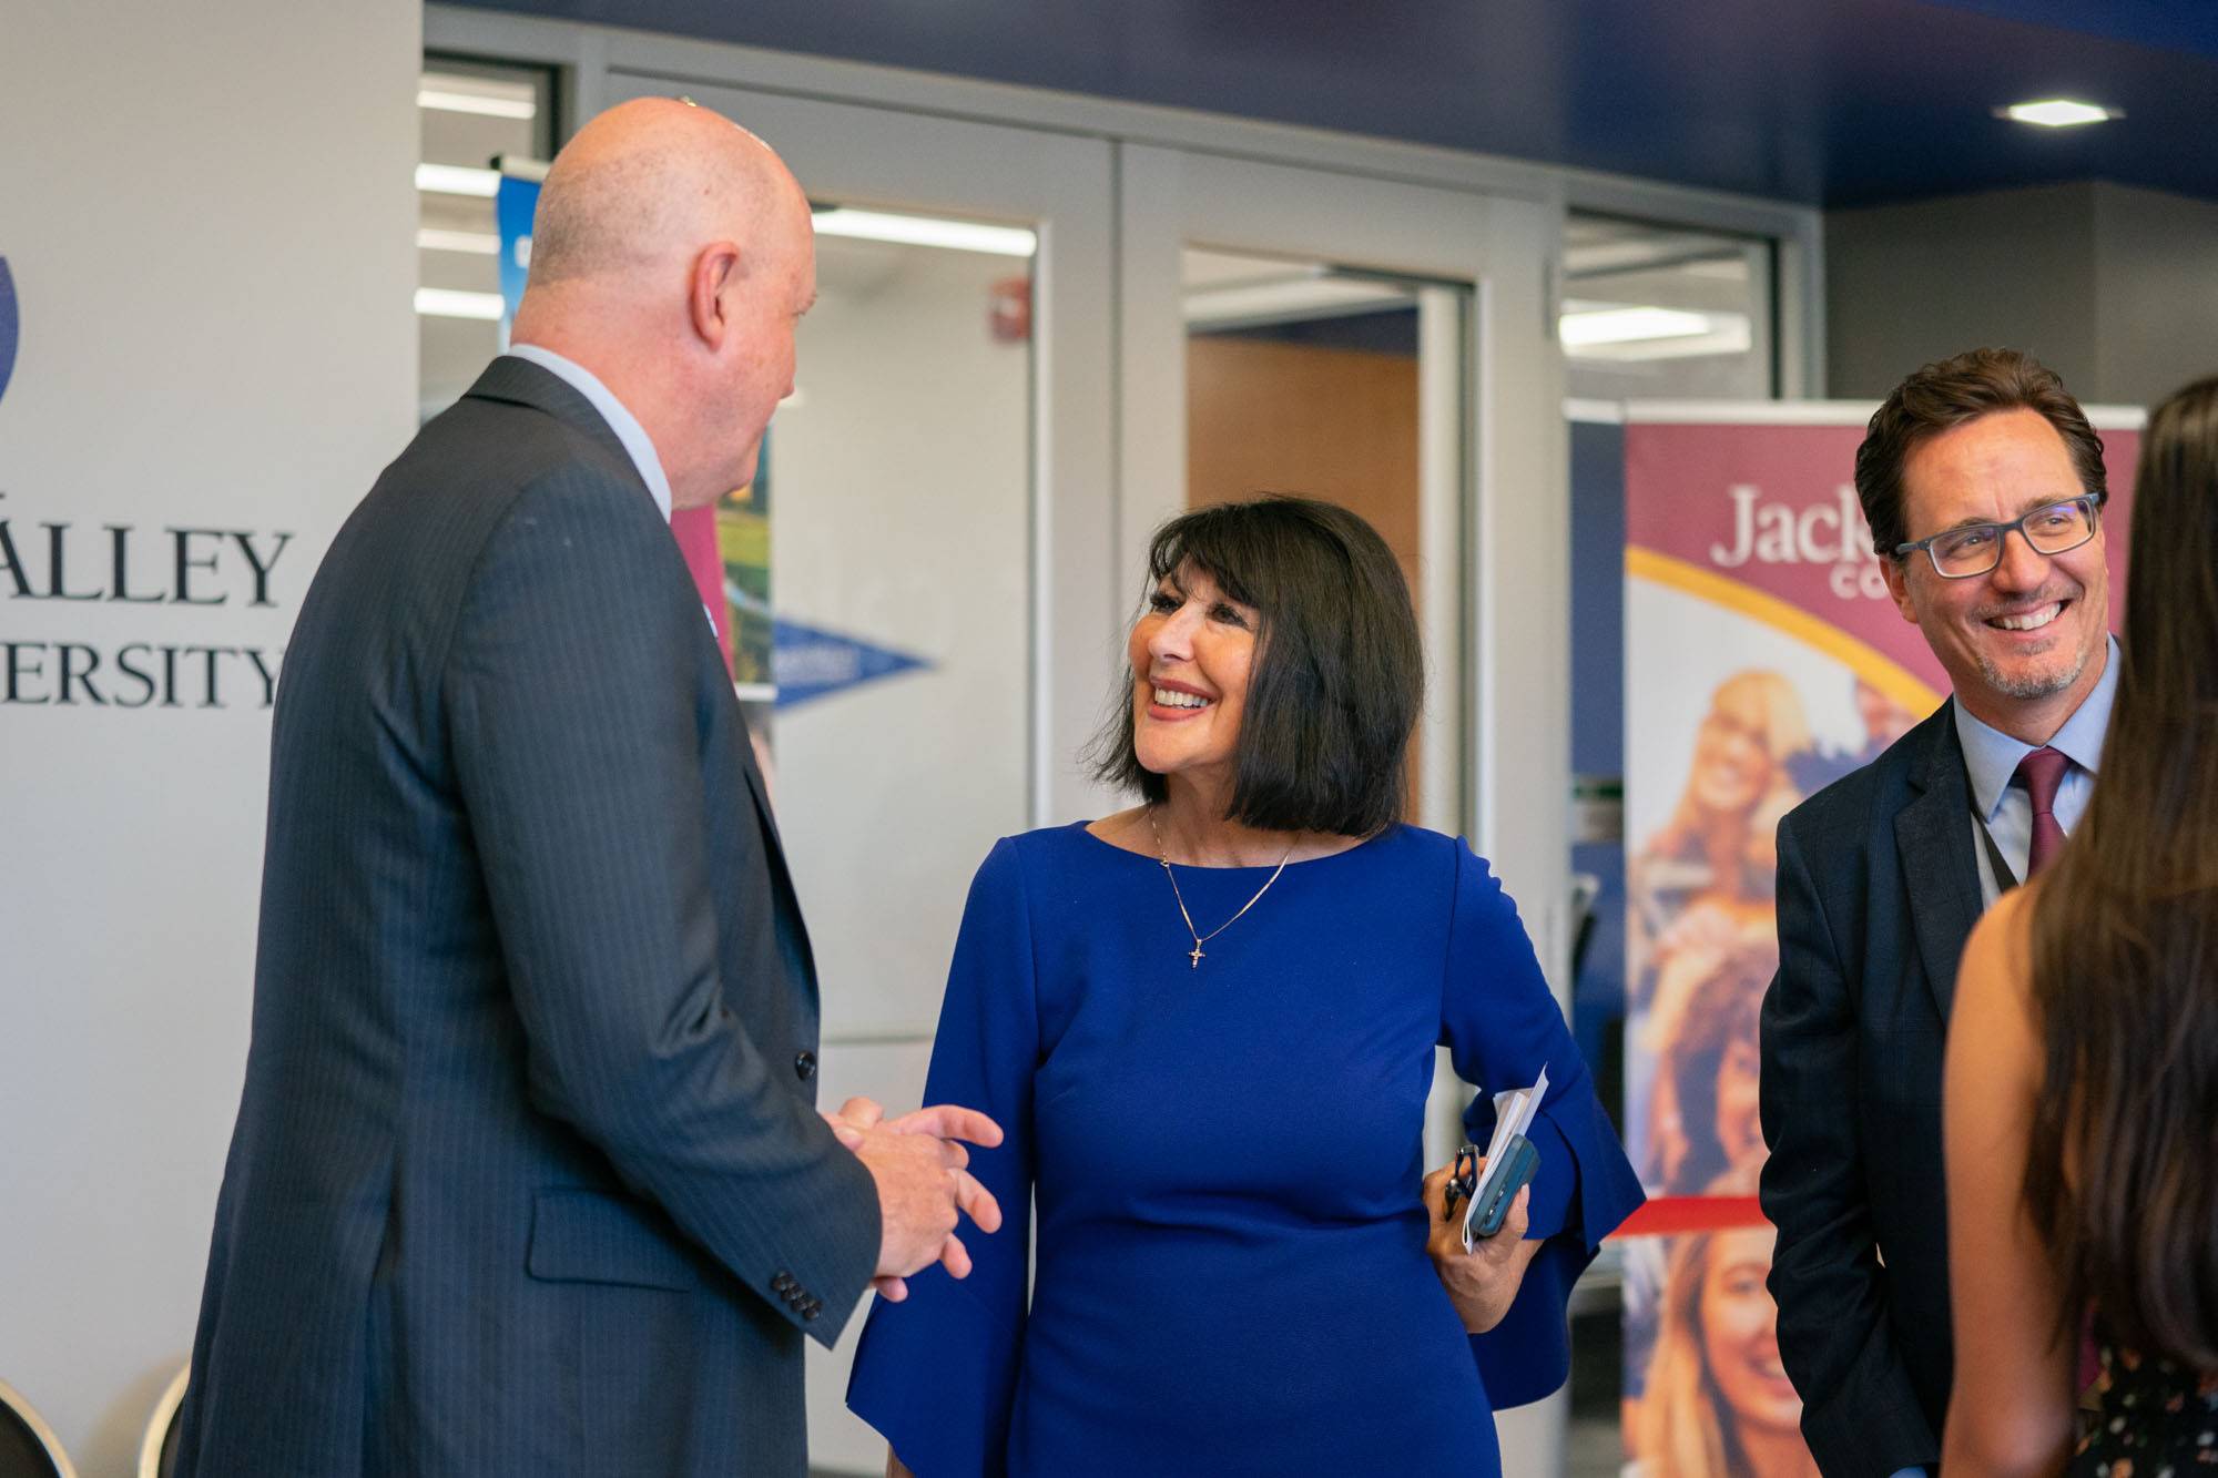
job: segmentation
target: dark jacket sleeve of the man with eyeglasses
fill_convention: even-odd
[[[1792,817],[1779,826],[1779,974],[1763,996],[1770,1289],[1803,1438],[1828,1478],[1939,1462],[1894,1343],[1861,1141],[1856,999]],[[1881,1152],[1883,1147],[1870,1147]]]

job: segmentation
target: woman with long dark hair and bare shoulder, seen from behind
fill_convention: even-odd
[[[2131,548],[2103,783],[1956,976],[1952,1478],[2218,1471],[2218,377],[2149,417]]]

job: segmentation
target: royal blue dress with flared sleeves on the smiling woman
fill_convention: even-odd
[[[1269,874],[1178,883],[1207,932]],[[971,1152],[1005,1223],[963,1227],[969,1278],[878,1300],[847,1405],[918,1478],[1497,1474],[1493,1409],[1564,1383],[1564,1298],[1641,1201],[1515,905],[1397,826],[1191,948],[1156,859],[1085,826],[994,846],[925,1101],[1007,1130]],[[1490,1094],[1548,1067],[1548,1245],[1484,1336],[1424,1252],[1435,1043],[1484,1090],[1479,1145]]]

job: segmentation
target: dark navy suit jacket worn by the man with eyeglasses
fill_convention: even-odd
[[[1950,701],[1779,823],[1761,1190],[1779,1356],[1828,1478],[1941,1460],[1941,1056],[1983,910],[1970,817]]]

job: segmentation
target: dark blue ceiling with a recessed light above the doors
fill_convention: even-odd
[[[2218,200],[2214,0],[464,0],[1823,206]],[[2005,102],[2125,109],[2032,129]]]

